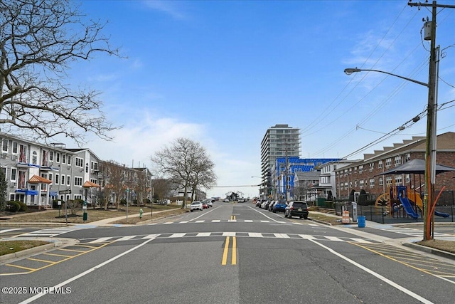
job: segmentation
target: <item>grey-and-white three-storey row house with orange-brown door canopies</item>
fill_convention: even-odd
[[[90,150],[42,145],[3,132],[0,143],[7,199],[45,207],[52,206],[53,199],[95,200],[99,159]]]

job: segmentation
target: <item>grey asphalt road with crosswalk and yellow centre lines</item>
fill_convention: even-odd
[[[409,236],[226,203],[144,226],[77,226],[57,234],[77,245],[1,265],[0,302],[453,304],[454,261],[389,234]]]

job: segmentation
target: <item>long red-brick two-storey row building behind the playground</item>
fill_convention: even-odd
[[[405,185],[423,192],[424,177],[421,174],[380,175],[393,167],[398,167],[411,159],[424,159],[426,137],[412,137],[392,147],[384,147],[373,154],[364,154],[363,159],[334,168],[336,193],[340,198],[347,198],[351,191],[364,190],[371,199],[388,192],[392,184]],[[437,164],[455,167],[455,132],[446,132],[437,136]],[[442,187],[455,190],[455,172],[437,174],[435,190]]]

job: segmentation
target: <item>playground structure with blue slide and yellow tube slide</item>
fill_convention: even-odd
[[[404,210],[403,216],[408,215],[413,219],[419,219],[423,214],[423,202],[422,197],[419,193],[413,189],[407,189],[406,186],[395,186],[390,187],[390,191],[385,194],[381,194],[376,199],[375,206],[385,206],[386,213],[390,216],[401,216],[401,211]],[[434,210],[434,215],[449,217],[449,214],[441,213]]]

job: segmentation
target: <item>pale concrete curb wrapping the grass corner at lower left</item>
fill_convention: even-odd
[[[12,261],[16,258],[24,258],[27,256],[33,256],[36,253],[43,253],[45,251],[52,250],[53,248],[65,247],[65,246],[70,246],[70,245],[79,243],[79,241],[77,241],[75,239],[50,239],[50,238],[21,238],[21,239],[3,238],[0,241],[47,241],[47,242],[49,242],[45,245],[24,249],[21,251],[17,251],[15,253],[4,254],[3,256],[0,256],[0,263],[5,263],[6,261]]]

